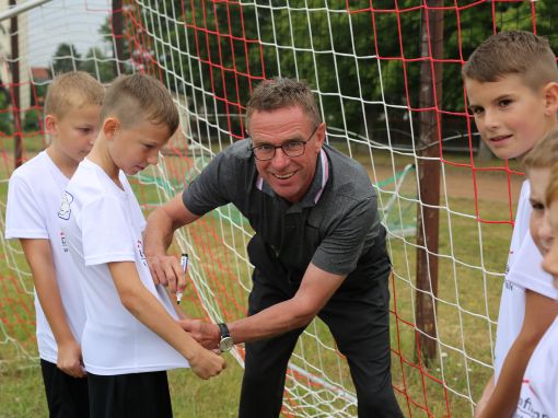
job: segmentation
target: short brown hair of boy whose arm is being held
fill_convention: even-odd
[[[118,118],[123,128],[130,128],[143,120],[166,125],[172,136],[179,125],[179,116],[171,93],[154,78],[136,73],[120,76],[106,91],[101,108],[101,120],[108,116]]]

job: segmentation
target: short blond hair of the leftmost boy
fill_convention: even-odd
[[[66,72],[48,86],[45,115],[62,118],[72,108],[103,104],[105,88],[83,71]]]

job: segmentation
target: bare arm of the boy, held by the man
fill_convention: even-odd
[[[123,305],[183,355],[199,378],[209,379],[225,368],[226,364],[221,357],[201,347],[168,315],[141,282],[135,263],[108,263],[108,269]]]

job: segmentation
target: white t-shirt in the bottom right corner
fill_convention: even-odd
[[[547,329],[528,361],[513,416],[558,417],[558,318]]]

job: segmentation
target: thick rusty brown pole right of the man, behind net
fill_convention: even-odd
[[[435,309],[438,297],[438,239],[440,205],[440,114],[437,104],[442,97],[443,12],[432,10],[443,5],[443,0],[426,1],[421,16],[421,56],[431,57],[422,61],[420,69],[420,139],[418,175],[421,205],[417,213],[417,294],[416,318],[420,356],[425,363],[435,358],[437,327]],[[434,96],[435,88],[435,96]]]

